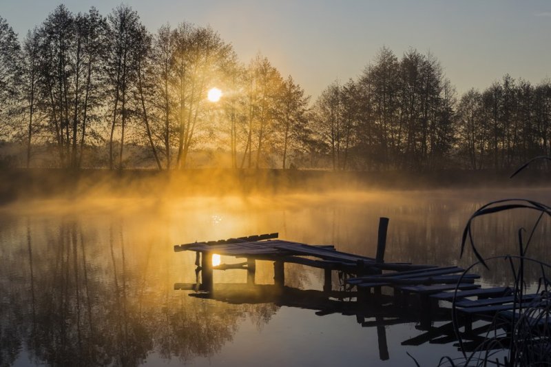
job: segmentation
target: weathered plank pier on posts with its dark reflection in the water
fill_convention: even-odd
[[[362,326],[377,326],[381,359],[388,358],[388,350],[384,347],[384,326],[388,324],[420,323],[417,328],[424,333],[404,341],[404,345],[457,342],[461,337],[468,341],[461,344],[462,348],[474,349],[484,343],[491,328],[506,328],[503,326],[506,323],[497,325],[496,319],[519,319],[519,308],[550,308],[551,298],[547,292],[519,295],[508,286],[482,288],[477,284],[479,275],[466,273],[457,266],[385,262],[387,225],[388,219],[382,218],[375,258],[337,251],[333,246],[278,240],[278,233],[176,245],[176,252],[196,252],[198,282],[176,283],[174,288],[201,291],[191,295],[224,302],[273,302],[313,309],[320,316],[330,313],[356,315]],[[214,253],[245,261],[213,266]],[[273,262],[273,285],[255,284],[257,260]],[[302,291],[285,286],[285,263],[324,269],[323,291]],[[228,269],[246,270],[247,284],[215,285],[213,271]],[[335,272],[345,280],[339,290],[332,289]],[[455,311],[454,321],[451,305]],[[433,327],[434,322],[447,323]],[[528,322],[551,329],[551,319],[542,321],[532,315]],[[458,327],[461,328],[459,335]]]

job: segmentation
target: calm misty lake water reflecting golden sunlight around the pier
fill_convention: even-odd
[[[220,302],[174,291],[196,280],[193,253],[174,244],[278,231],[280,238],[334,244],[375,254],[378,218],[391,218],[388,261],[466,266],[459,260],[464,224],[480,205],[526,197],[546,204],[550,190],[399,191],[200,197],[176,201],[44,200],[0,209],[0,365],[114,364],[193,366],[435,366],[459,355],[453,343],[402,346],[422,333],[417,322],[381,330],[354,315],[267,302]],[[534,213],[516,211],[475,223],[484,256],[516,253],[519,227]],[[534,233],[530,254],[551,260],[550,222]],[[223,262],[236,262],[222,258]],[[508,278],[504,266],[477,269],[488,285]],[[321,290],[322,271],[286,268],[286,284]],[[215,283],[244,283],[244,271],[215,271]],[[257,284],[273,284],[260,262]],[[333,288],[338,289],[337,280]],[[369,319],[366,319],[369,321]],[[435,325],[437,326],[437,325]]]

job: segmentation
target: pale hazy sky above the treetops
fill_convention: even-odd
[[[0,16],[22,36],[62,1],[0,0]],[[66,0],[72,12],[120,1]],[[483,89],[509,73],[551,76],[551,1],[132,0],[152,32],[169,22],[211,25],[241,61],[261,52],[318,96],[335,79],[356,78],[383,45],[401,56],[432,52],[457,87]]]

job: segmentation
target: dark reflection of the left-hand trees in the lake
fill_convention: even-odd
[[[173,253],[154,253],[162,236],[136,246],[123,220],[112,219],[107,233],[70,218],[56,227],[28,219],[26,243],[2,247],[0,366],[23,350],[35,364],[61,366],[137,366],[152,351],[190,361],[217,353],[247,317],[260,327],[277,310],[175,292]]]

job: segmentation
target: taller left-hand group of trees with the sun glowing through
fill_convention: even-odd
[[[184,168],[198,149],[228,151],[231,167],[266,167],[306,123],[309,97],[291,76],[260,55],[240,64],[208,27],[151,34],[129,6],[103,17],[63,5],[21,45],[0,26],[2,135],[23,143],[26,167],[40,153],[57,167]],[[211,87],[224,92],[220,103],[207,100]]]

